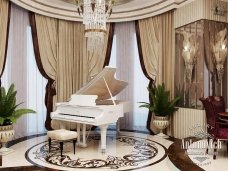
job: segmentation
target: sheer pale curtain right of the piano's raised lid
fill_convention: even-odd
[[[132,105],[132,112],[121,118],[121,129],[145,131],[148,110],[139,108],[138,102],[149,101],[149,80],[144,76],[140,66],[134,22],[115,25],[109,65],[117,68],[117,78],[128,82],[128,87],[117,96],[118,99],[129,100]]]

